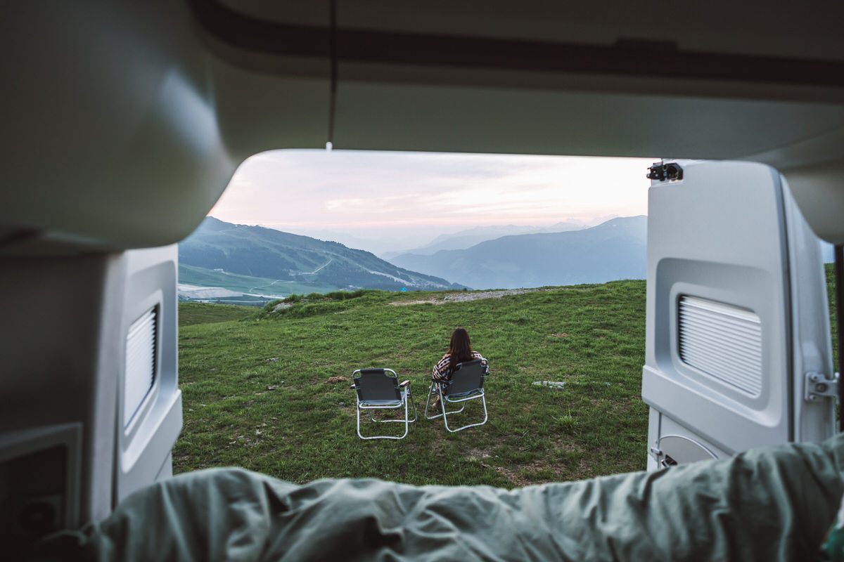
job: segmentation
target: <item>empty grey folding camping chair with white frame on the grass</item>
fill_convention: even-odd
[[[352,373],[351,388],[357,392],[358,410],[358,436],[361,439],[404,439],[408,435],[408,427],[416,421],[416,405],[414,404],[413,393],[410,392],[410,381],[398,383],[398,375],[392,369],[358,369]],[[414,419],[411,420],[408,412],[408,402],[414,410]],[[398,409],[404,408],[404,417],[398,420],[376,420],[371,410],[374,409]],[[403,423],[404,435],[396,436],[371,436],[365,437],[360,434],[360,410],[370,410],[370,420],[376,423]]]

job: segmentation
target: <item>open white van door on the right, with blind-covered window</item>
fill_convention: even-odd
[[[784,179],[757,163],[668,166],[648,200],[648,468],[831,436],[820,241]]]

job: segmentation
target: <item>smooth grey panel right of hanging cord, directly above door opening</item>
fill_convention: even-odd
[[[419,69],[420,86],[387,81],[398,65],[360,67],[339,67],[335,149],[744,158],[844,125],[840,104],[579,91],[554,74],[543,83],[516,73],[533,88],[484,87],[439,67]]]

